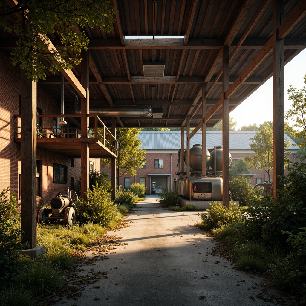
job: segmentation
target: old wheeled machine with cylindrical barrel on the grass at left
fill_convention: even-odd
[[[37,210],[38,223],[64,222],[70,227],[76,222],[77,208],[74,202],[78,200],[75,191],[68,189],[58,192],[55,198],[50,201],[51,209],[39,207]]]

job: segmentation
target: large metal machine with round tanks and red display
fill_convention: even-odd
[[[186,164],[186,149],[184,162]],[[179,179],[174,180],[174,188],[179,195],[188,200],[222,201],[222,147],[206,149],[206,172],[202,174],[202,145],[194,144],[189,150],[190,169],[181,171],[181,152],[178,152]],[[232,156],[229,155],[230,163]]]

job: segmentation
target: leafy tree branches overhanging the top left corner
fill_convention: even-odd
[[[50,72],[78,65],[81,50],[87,50],[89,39],[82,28],[98,26],[111,31],[117,9],[109,0],[19,0],[0,3],[0,27],[14,32],[17,47],[12,51],[13,65],[19,65],[34,81],[45,79]],[[12,25],[13,20],[13,25]],[[78,28],[80,27],[80,28]],[[63,48],[48,48],[48,37],[56,32]],[[51,55],[50,55],[51,53]],[[46,67],[46,63],[47,66]]]

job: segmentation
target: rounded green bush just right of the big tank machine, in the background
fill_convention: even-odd
[[[239,201],[239,204],[249,205],[254,200],[262,198],[261,192],[254,189],[249,177],[237,176],[230,180],[230,192],[232,200]]]

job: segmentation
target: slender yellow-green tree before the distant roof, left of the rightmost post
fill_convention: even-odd
[[[264,125],[256,132],[254,138],[250,139],[252,140],[250,148],[256,155],[245,157],[245,161],[253,167],[258,167],[259,170],[265,170],[270,182],[270,170],[273,170],[273,130],[269,124]],[[285,141],[285,149],[289,144],[290,141]]]

